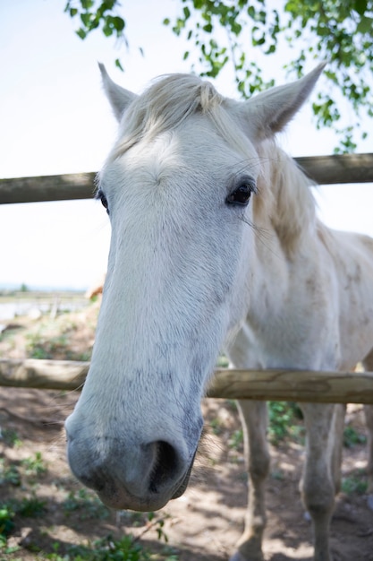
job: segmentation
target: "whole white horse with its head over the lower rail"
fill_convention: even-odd
[[[106,505],[151,511],[182,495],[224,347],[234,367],[373,368],[373,240],[316,218],[309,179],[274,140],[322,69],[240,102],[182,74],[138,97],[101,66],[120,123],[97,190],[112,239],[89,375],[66,431],[73,473]],[[232,559],[257,561],[267,410],[239,406],[249,509]],[[301,496],[315,559],[330,561],[343,407],[301,409]]]

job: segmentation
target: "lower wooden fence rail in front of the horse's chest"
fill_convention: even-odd
[[[0,385],[44,390],[80,389],[89,362],[0,359]],[[265,401],[373,404],[373,372],[216,369],[208,397]]]

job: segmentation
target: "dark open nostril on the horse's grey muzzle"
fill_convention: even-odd
[[[153,469],[150,473],[149,490],[157,493],[158,488],[169,483],[179,471],[179,458],[174,446],[164,440],[149,444],[154,454]]]

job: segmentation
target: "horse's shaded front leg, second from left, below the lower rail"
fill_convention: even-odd
[[[335,505],[335,406],[302,403],[301,410],[307,435],[301,497],[313,524],[314,559],[332,561],[329,551],[329,526]]]

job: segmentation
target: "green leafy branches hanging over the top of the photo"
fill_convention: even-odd
[[[256,53],[268,62],[300,76],[312,59],[328,61],[330,87],[318,93],[313,112],[318,128],[333,126],[340,137],[335,151],[353,151],[368,132],[360,122],[373,117],[373,0],[179,0],[181,13],[164,24],[191,48],[184,58],[191,69],[215,78],[227,66],[233,70],[243,98],[274,85],[266,80]],[[118,0],[67,0],[65,11],[80,20],[76,31],[85,39],[92,30],[125,40],[125,19]],[[222,33],[223,31],[223,33]],[[246,38],[249,40],[249,48]],[[284,65],[279,46],[292,48]],[[122,68],[119,59],[115,64]],[[341,100],[348,101],[346,119]],[[345,112],[344,112],[345,113]]]

